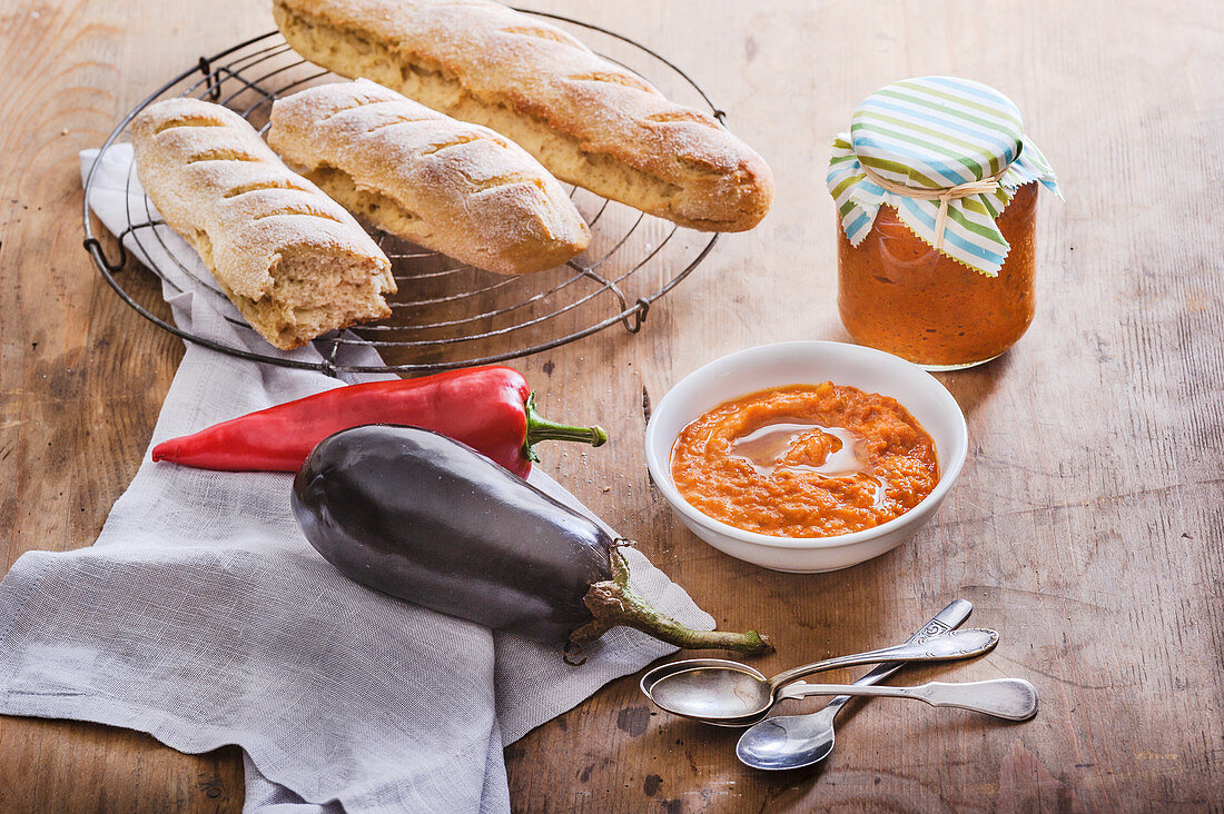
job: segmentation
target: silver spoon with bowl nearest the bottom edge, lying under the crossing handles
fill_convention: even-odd
[[[916,644],[947,633],[965,622],[972,612],[973,605],[971,602],[955,600],[928,622],[922,630],[913,634],[906,644]],[[902,666],[901,662],[885,662],[854,683],[858,685],[875,684],[901,670]],[[851,698],[851,695],[838,695],[819,712],[775,715],[753,725],[739,736],[739,743],[736,744],[736,756],[747,766],[772,771],[803,769],[820,763],[834,750],[834,721]]]

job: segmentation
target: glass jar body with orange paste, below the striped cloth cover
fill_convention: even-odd
[[[1033,321],[1037,182],[1016,190],[995,222],[1011,245],[987,277],[919,239],[890,206],[852,246],[837,229],[837,310],[862,345],[927,370],[980,365],[1011,348]]]

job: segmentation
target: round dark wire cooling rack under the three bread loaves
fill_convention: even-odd
[[[709,108],[720,121],[723,119],[723,113],[688,75],[649,48],[577,20],[520,11],[580,31],[583,38],[606,59],[641,75],[670,98],[690,106]],[[102,152],[129,141],[131,120],[162,98],[193,95],[224,104],[262,131],[267,126],[272,102],[278,95],[337,78],[301,59],[278,32],[271,32],[214,56],[201,58],[197,66],[164,84],[129,113],[106,138]],[[95,166],[100,164],[99,160]],[[147,198],[144,206],[129,207],[126,228],[116,235],[119,244],[111,250],[115,258],[108,257],[108,250],[93,231],[88,208],[92,182],[91,171],[86,181],[83,212],[84,248],[106,283],[144,318],[213,350],[332,375],[425,373],[506,361],[557,348],[617,323],[636,333],[651,305],[688,277],[718,239],[717,234],[677,226],[569,185],[565,189],[570,198],[591,228],[590,246],[567,264],[536,274],[493,274],[367,226],[392,261],[399,286],[399,293],[388,297],[393,313],[378,323],[316,339],[315,348],[322,361],[311,362],[288,359],[271,345],[267,345],[266,354],[253,353],[247,346],[223,345],[173,324],[160,285],[142,271],[144,264],[129,257],[125,237],[130,237],[144,257],[151,256],[149,248],[157,247],[173,258],[176,269],[153,264],[153,274],[163,283],[177,288],[168,279],[168,272],[176,271],[186,273],[213,295],[223,300],[225,295],[215,280],[196,277],[187,262],[175,257],[162,230],[155,229],[163,222],[155,218]],[[135,182],[135,171],[130,171],[129,189]],[[162,256],[163,252],[155,255]],[[228,318],[241,329],[252,330],[240,318]],[[340,353],[344,345],[356,343],[377,348],[384,364],[339,362],[338,357],[344,356]],[[252,346],[261,345],[253,343]]]

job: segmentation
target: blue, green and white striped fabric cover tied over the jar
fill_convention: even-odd
[[[890,189],[873,181],[868,170]],[[998,180],[988,185],[990,191],[950,197],[940,218],[941,202],[931,191],[988,179]],[[1062,197],[1054,170],[1024,136],[1011,99],[979,82],[947,76],[905,80],[863,99],[849,133],[834,141],[826,177],[853,246],[863,242],[875,213],[887,203],[923,241],[989,277],[999,274],[1010,248],[995,218],[1017,187],[1033,181]],[[906,189],[925,197],[903,195]],[[942,235],[936,234],[940,220]]]

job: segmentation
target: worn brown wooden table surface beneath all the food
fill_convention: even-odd
[[[736,734],[652,712],[633,677],[506,750],[521,810],[1171,810],[1224,801],[1224,18],[1218,4],[1061,0],[530,0],[687,67],[770,162],[777,200],[650,312],[520,360],[553,415],[614,441],[543,466],[728,628],[766,673],[905,639],[953,597],[1002,633],[953,668],[1020,676],[1006,725],[876,701],[813,771],[741,766]],[[165,77],[271,28],[266,4],[9,0],[0,12],[0,562],[89,545],[136,471],[181,357],[81,248],[77,151]],[[942,375],[969,422],[935,521],[853,569],[778,574],[706,547],[647,479],[644,397],[725,353],[845,339],[835,307],[834,133],[890,81],[955,73],[1007,93],[1059,171],[1043,202],[1028,335]],[[612,486],[605,490],[603,486]],[[190,756],[102,726],[0,720],[5,812],[237,812],[236,748]]]

